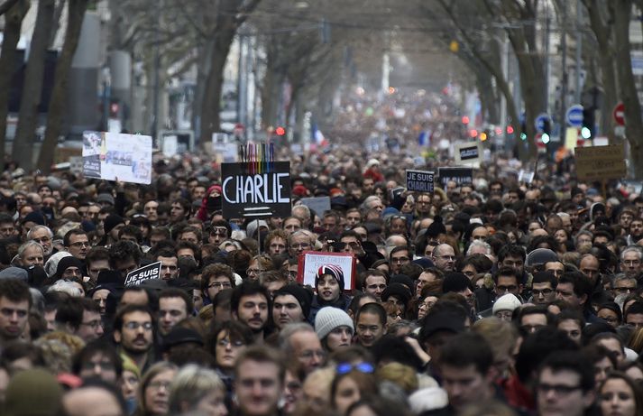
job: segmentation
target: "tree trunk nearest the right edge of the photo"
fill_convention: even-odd
[[[643,119],[630,57],[629,23],[632,0],[614,0],[614,34],[620,98],[625,106],[625,135],[628,137],[634,176],[643,179]]]

